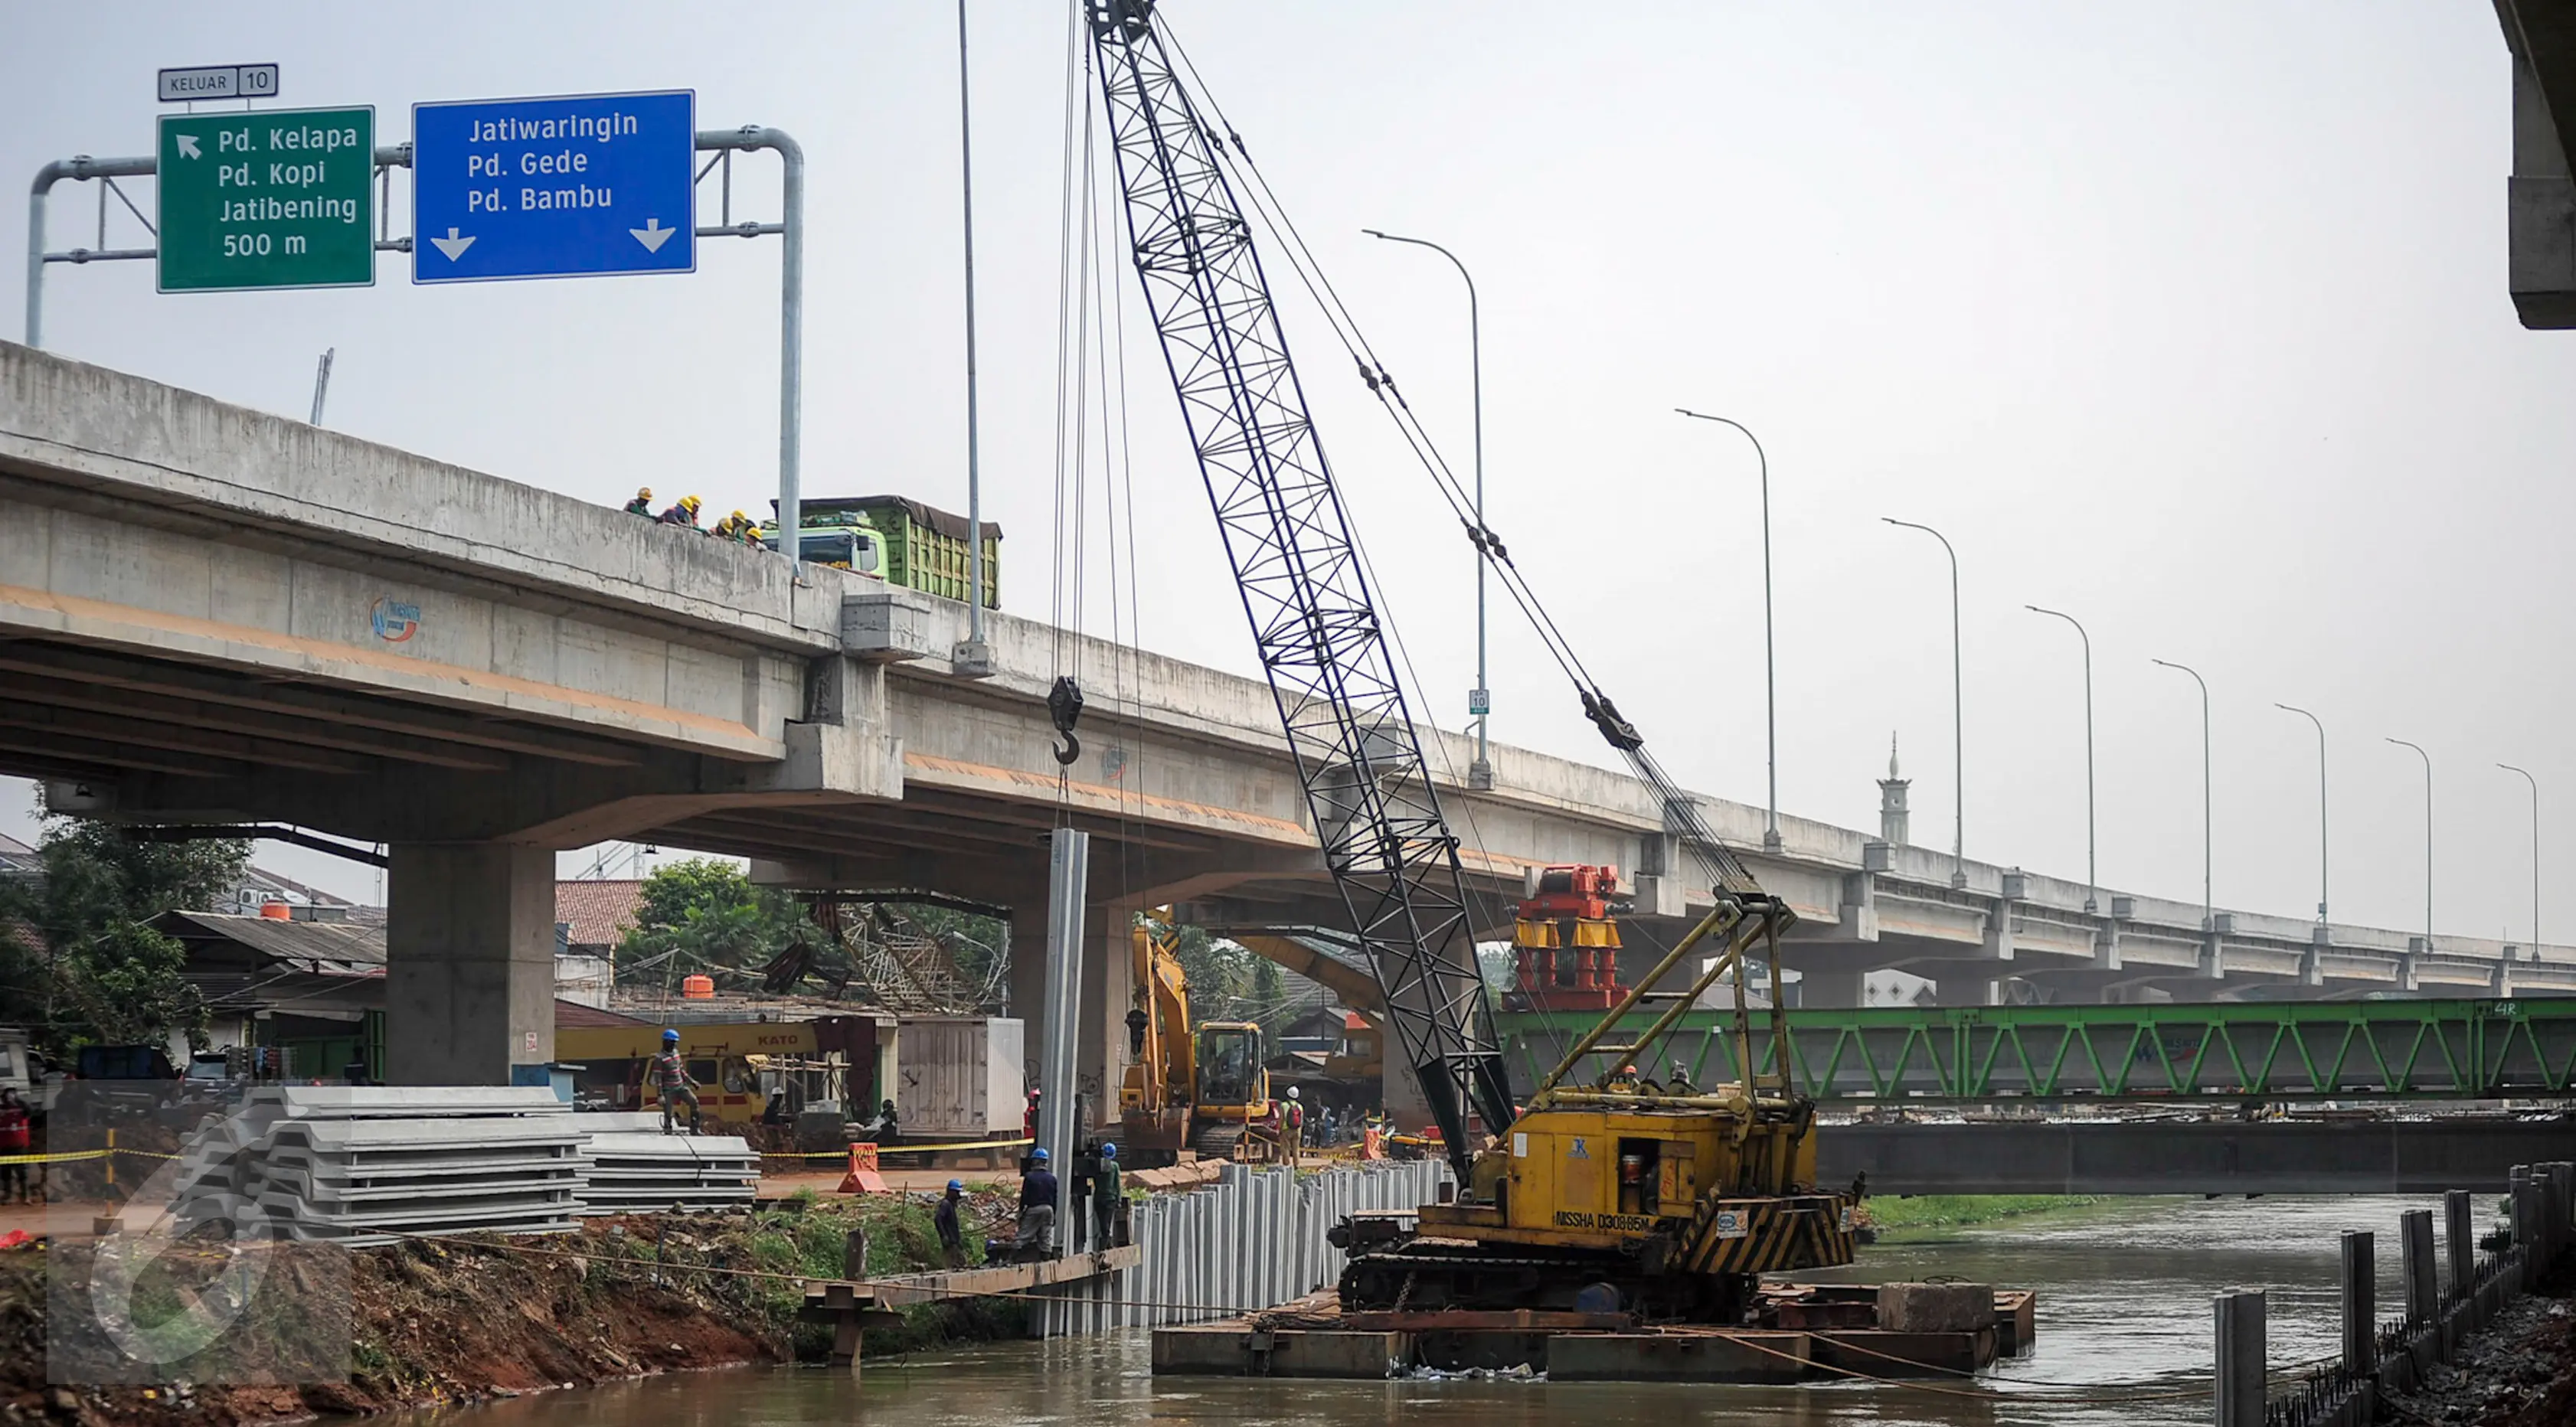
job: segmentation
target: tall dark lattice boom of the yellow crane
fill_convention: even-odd
[[[1252,229],[1151,23],[1087,0],[1131,252],[1324,865],[1461,1182],[1512,1123],[1458,840],[1440,814]]]

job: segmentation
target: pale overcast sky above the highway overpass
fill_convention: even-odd
[[[2522,762],[2576,847],[2576,348],[2504,288],[2509,59],[2486,5],[1620,5],[1172,0],[1170,21],[1381,358],[1466,466],[1455,273],[1484,301],[1489,520],[1690,786],[1762,801],[1752,448],[1772,458],[1780,801],[1873,827],[1888,734],[1917,842],[1947,845],[1950,610],[1965,608],[1965,845],[2084,876],[2092,628],[2102,881],[2200,894],[2200,667],[2223,907],[2316,904],[2331,739],[2336,920],[2530,935]],[[283,106],[693,88],[698,126],[775,124],[811,165],[806,492],[963,507],[956,28],[943,5],[345,5],[0,15],[0,175],[152,147],[160,64],[283,64]],[[1066,10],[974,0],[984,500],[1005,608],[1046,616]],[[1097,100],[1092,100],[1097,103]],[[149,209],[149,180],[134,183]],[[701,191],[711,222],[714,185]],[[737,216],[775,214],[775,162]],[[57,188],[54,247],[95,191]],[[407,232],[407,180],[394,232]],[[134,245],[111,224],[111,245]],[[0,237],[15,260],[15,229]],[[1126,304],[1144,644],[1249,670],[1159,353]],[[10,263],[8,270],[15,270]],[[1430,693],[1466,721],[1471,559],[1303,294],[1306,392]],[[0,294],[18,332],[18,291]],[[698,273],[155,296],[144,263],[52,270],[49,348],[587,500],[649,482],[711,513],[775,492],[778,242]],[[2553,397],[2555,394],[2555,397]],[[1092,422],[1097,433],[1097,420]],[[1087,623],[1123,543],[1097,515]],[[1110,549],[1118,546],[1118,559]],[[1494,732],[1607,760],[1517,616]],[[18,804],[8,796],[8,804]],[[23,832],[15,806],[0,829]],[[281,858],[368,894],[374,876]],[[2576,940],[2553,902],[2550,940]]]

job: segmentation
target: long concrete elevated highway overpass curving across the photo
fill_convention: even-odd
[[[732,853],[796,889],[930,889],[1023,912],[1036,1005],[1046,829],[1095,845],[1092,945],[1177,902],[1337,925],[1270,690],[1064,644],[1092,683],[1054,760],[1054,628],[636,520],[296,420],[0,343],[0,773],[59,811],[289,822],[389,845],[389,1072],[502,1079],[551,1056],[551,853],[603,837]],[[1133,698],[1108,698],[1110,670]],[[1528,871],[1607,863],[1638,940],[1695,914],[1664,809],[1623,773],[1461,739],[1435,778],[1489,930]],[[1803,925],[1811,1002],[1904,966],[1976,1005],[2576,992],[2576,950],[2419,938],[2105,894],[1695,796]],[[1953,871],[1965,884],[1953,886]],[[1115,1066],[1126,956],[1084,971],[1084,1079]],[[1097,1084],[1097,1082],[1095,1082]]]

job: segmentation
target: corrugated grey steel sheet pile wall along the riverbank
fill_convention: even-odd
[[[1108,1280],[1064,1285],[1038,1319],[1046,1337],[1188,1324],[1285,1303],[1342,1278],[1324,1231],[1363,1208],[1419,1208],[1440,1198],[1448,1164],[1355,1164],[1298,1177],[1226,1164],[1213,1187],[1131,1205],[1144,1262]]]

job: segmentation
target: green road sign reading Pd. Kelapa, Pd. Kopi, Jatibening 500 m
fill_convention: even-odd
[[[160,291],[376,283],[376,108],[165,113]]]

